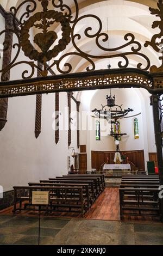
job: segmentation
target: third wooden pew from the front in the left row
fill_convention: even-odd
[[[93,180],[82,181],[82,180],[52,179],[52,180],[40,180],[40,183],[88,184],[89,185],[89,192],[90,192],[90,196],[91,196],[91,204],[93,204],[93,202],[95,202],[95,200],[96,200],[96,192],[94,190]]]

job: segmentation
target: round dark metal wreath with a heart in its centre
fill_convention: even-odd
[[[42,22],[42,24],[36,24],[36,22],[40,21]],[[47,31],[47,27],[50,27],[49,24],[53,24],[54,22],[60,23],[62,27],[62,38],[59,40],[58,45],[55,45],[52,50],[49,50],[49,48],[54,44],[55,40],[57,39],[57,33],[55,33],[54,31]],[[32,27],[38,27],[40,29],[43,29],[42,33],[38,33],[34,36],[34,42],[35,44],[37,44],[37,46],[40,47],[42,52],[38,52],[30,43],[29,30]],[[61,12],[49,10],[42,13],[36,13],[26,22],[24,22],[21,28],[20,40],[22,51],[24,52],[25,56],[29,57],[32,60],[41,63],[45,61],[48,62],[52,58],[57,57],[60,52],[65,50],[66,46],[71,41],[70,35],[70,23]]]

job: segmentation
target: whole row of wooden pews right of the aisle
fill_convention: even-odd
[[[160,216],[159,176],[122,176],[120,185],[120,215]]]

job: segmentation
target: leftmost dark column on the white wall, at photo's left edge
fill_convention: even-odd
[[[1,9],[1,14],[5,18],[5,29],[13,29],[13,15],[11,13],[6,13]],[[12,40],[13,33],[6,31],[5,39],[4,39],[4,51],[3,51],[3,63],[2,68],[7,68],[7,66],[11,63],[11,53],[12,53]],[[1,81],[9,81],[10,80],[10,70],[7,72],[2,72]],[[4,128],[7,123],[7,112],[8,112],[8,98],[0,99],[0,131]]]

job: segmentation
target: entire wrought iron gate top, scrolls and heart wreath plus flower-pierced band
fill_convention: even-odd
[[[160,52],[160,45],[163,42],[161,39],[163,34],[162,0],[158,2],[158,9],[149,8],[152,15],[160,18],[152,26],[153,28],[159,27],[160,33],[153,35],[151,41],[146,41],[144,45],[141,45],[133,34],[128,33],[124,36],[124,41],[126,42],[115,48],[104,47],[101,44],[101,42],[106,42],[109,38],[108,34],[102,32],[101,19],[93,14],[79,16],[78,2],[77,0],[73,1],[76,7],[74,13],[71,7],[66,5],[63,0],[59,2],[55,0],[25,0],[17,8],[12,7],[10,9],[12,12],[10,13],[10,19],[12,16],[10,27],[1,31],[0,36],[3,34],[14,34],[17,42],[14,42],[10,46],[10,42],[5,40],[4,52],[9,47],[11,47],[11,50],[12,48],[17,49],[17,52],[11,62],[0,70],[2,74],[0,97],[111,87],[137,87],[145,88],[150,93],[162,93],[163,57],[162,52]],[[17,16],[21,13],[21,9],[24,6],[26,7],[26,11],[21,15],[20,20],[18,20]],[[76,27],[80,21],[85,21],[86,23],[86,19],[89,17],[98,22],[99,28],[96,33],[92,34],[92,28],[87,27],[84,35],[86,38],[95,40],[96,46],[104,52],[102,55],[90,54],[80,48],[81,35],[76,33]],[[55,24],[61,26],[62,34],[60,38],[54,29]],[[34,43],[30,38],[31,28],[37,29],[37,33],[34,36]],[[75,50],[61,54],[70,42]],[[149,57],[143,53],[143,48],[148,46],[151,46],[156,52],[160,53],[159,59],[162,61],[162,64],[159,68],[151,66]],[[130,50],[122,52],[122,49],[126,47],[130,47]],[[24,52],[24,56],[29,58],[29,61],[27,58],[26,60],[17,61],[21,51]],[[145,60],[146,64],[138,62],[135,69],[129,68],[129,57],[133,55]],[[67,57],[70,56],[78,56],[81,59],[85,59],[88,63],[86,72],[71,74],[72,64],[67,60]],[[118,68],[96,70],[96,60],[108,58],[118,59]],[[40,69],[39,63],[43,64],[42,70]],[[64,69],[61,68],[61,63],[64,63]],[[24,70],[22,72],[22,80],[5,82],[5,74],[10,72],[15,66],[18,67],[23,64],[28,65],[31,71]],[[48,71],[53,67],[57,69],[60,75],[48,76]],[[40,78],[34,78],[35,70],[37,69],[42,75]]]

